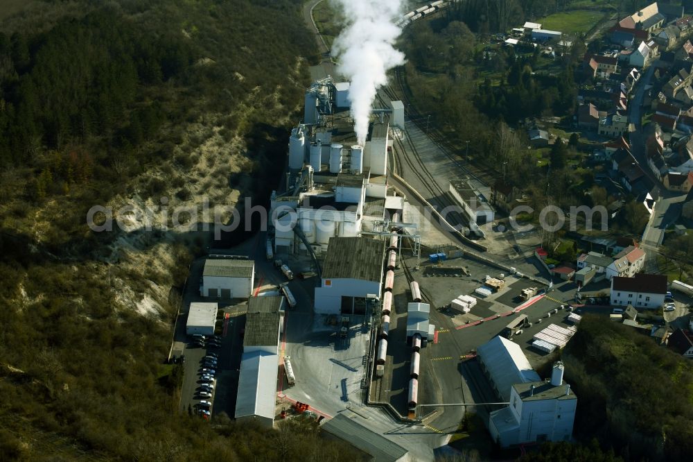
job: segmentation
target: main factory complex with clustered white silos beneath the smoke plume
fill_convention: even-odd
[[[349,89],[328,77],[306,92],[304,121],[289,139],[286,191],[272,194],[277,254],[320,255],[331,237],[357,237],[385,216],[390,124],[403,126],[404,105],[376,110],[361,146]]]

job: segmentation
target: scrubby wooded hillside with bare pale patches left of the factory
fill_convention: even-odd
[[[299,0],[35,1],[0,23],[0,460],[353,459],[310,425],[179,415],[164,360],[206,235],[85,219],[269,194],[314,55]]]

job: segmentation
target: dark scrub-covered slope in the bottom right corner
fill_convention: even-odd
[[[690,360],[603,316],[583,318],[562,359],[578,396],[578,438],[598,438],[624,460],[690,459]]]

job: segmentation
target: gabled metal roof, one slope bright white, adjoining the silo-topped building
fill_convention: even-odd
[[[501,336],[495,336],[477,348],[477,357],[484,363],[495,388],[505,401],[510,399],[510,390],[514,384],[541,380],[527,361],[520,345]]]

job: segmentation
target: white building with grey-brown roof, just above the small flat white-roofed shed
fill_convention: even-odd
[[[253,292],[255,262],[249,259],[207,259],[200,295],[211,298],[249,298]]]

